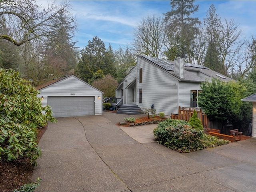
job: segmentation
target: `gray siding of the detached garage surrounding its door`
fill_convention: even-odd
[[[40,94],[38,94],[39,98],[42,96],[44,96],[44,99],[42,100],[44,106],[47,105],[48,96],[94,96],[94,114],[102,114],[102,92],[79,80],[75,76],[70,76],[69,78],[43,88],[40,90]],[[100,96],[100,99],[98,99],[98,96]]]

